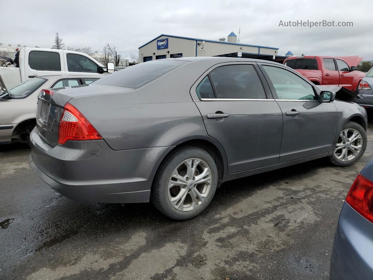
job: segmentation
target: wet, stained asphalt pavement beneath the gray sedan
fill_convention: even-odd
[[[58,197],[27,146],[0,146],[0,279],[328,279],[339,211],[372,158],[368,130],[353,166],[319,159],[230,181],[188,221]]]

